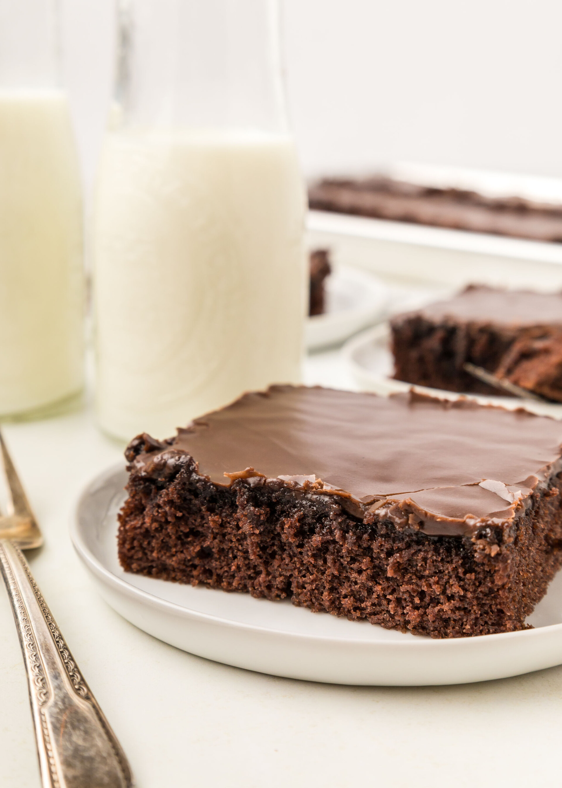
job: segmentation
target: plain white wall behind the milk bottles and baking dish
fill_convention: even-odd
[[[562,3],[283,6],[290,114],[307,175],[407,160],[562,177]],[[89,190],[111,90],[113,0],[62,7]]]

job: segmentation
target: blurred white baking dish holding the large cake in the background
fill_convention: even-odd
[[[448,169],[396,165],[394,177],[428,184],[446,183]],[[453,172],[453,171],[450,171]],[[449,177],[450,173],[449,173]],[[454,170],[454,186],[483,194],[519,195],[553,203],[562,180]],[[519,240],[478,232],[442,229],[311,210],[311,247],[330,247],[336,262],[361,266],[390,281],[439,283],[453,288],[468,282],[537,290],[562,289],[562,243]]]

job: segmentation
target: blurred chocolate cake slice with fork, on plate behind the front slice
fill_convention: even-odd
[[[562,402],[562,293],[472,284],[453,299],[396,315],[390,327],[399,381],[497,394],[464,370],[470,362]]]

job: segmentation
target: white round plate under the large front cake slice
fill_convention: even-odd
[[[288,600],[127,574],[116,547],[126,481],[120,466],[91,482],[78,503],[72,542],[102,597],[179,649],[288,678],[390,686],[479,682],[562,663],[562,572],[528,619],[536,629],[449,640],[312,613]]]

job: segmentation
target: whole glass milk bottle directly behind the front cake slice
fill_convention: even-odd
[[[305,191],[274,0],[120,3],[94,220],[97,409],[157,437],[298,382]]]

